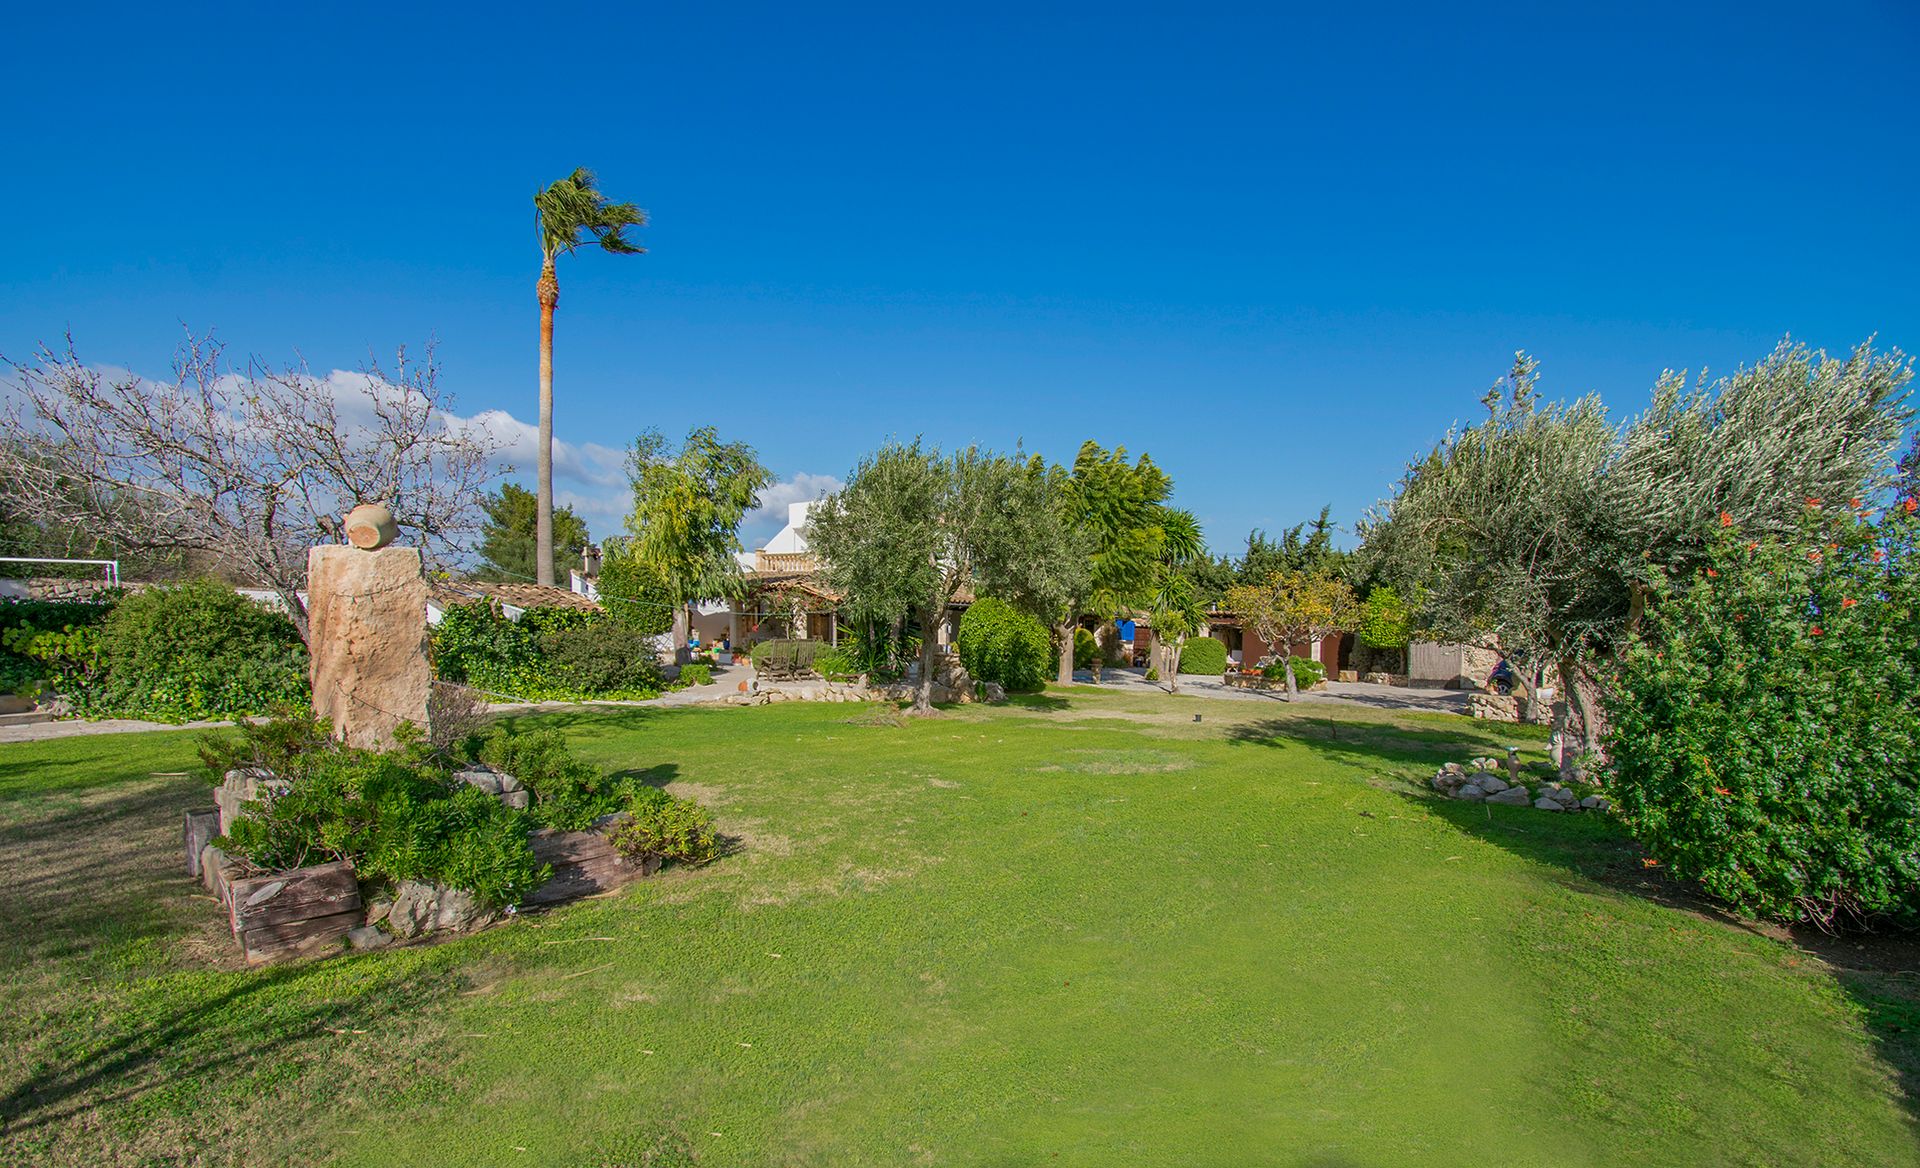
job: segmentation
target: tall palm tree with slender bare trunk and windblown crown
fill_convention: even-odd
[[[645,248],[626,238],[628,227],[645,227],[647,213],[634,204],[607,202],[593,186],[593,171],[578,169],[534,196],[540,227],[540,490],[534,509],[534,572],[553,584],[553,309],[561,305],[561,280],[553,261],[595,242],[605,252],[634,256]]]

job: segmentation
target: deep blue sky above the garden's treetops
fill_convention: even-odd
[[[1231,551],[1352,523],[1519,348],[1620,411],[1920,348],[1907,4],[401,8],[13,12],[0,352],[436,338],[532,421],[530,196],[588,165],[653,213],[561,271],[597,534],[593,446],[712,423],[780,499],[889,436],[1125,444]]]

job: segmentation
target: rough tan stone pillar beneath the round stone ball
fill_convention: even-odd
[[[334,738],[390,749],[401,722],[428,730],[434,665],[419,548],[311,549],[307,649],[313,713],[332,720]]]

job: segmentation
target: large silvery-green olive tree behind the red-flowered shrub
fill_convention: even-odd
[[[1899,352],[1782,342],[1715,382],[1663,375],[1651,407],[1617,426],[1596,396],[1542,403],[1538,363],[1521,353],[1482,400],[1486,421],[1450,432],[1369,515],[1367,567],[1402,596],[1419,590],[1415,624],[1430,636],[1555,665],[1594,751],[1596,670],[1647,592],[1692,574],[1720,513],[1786,532],[1809,498],[1884,488],[1910,377]]]

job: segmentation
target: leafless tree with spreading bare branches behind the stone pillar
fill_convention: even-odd
[[[230,367],[188,334],[173,378],[109,377],[73,338],[6,361],[0,476],[17,507],[134,551],[202,551],[271,588],[307,634],[307,549],[355,503],[386,503],[428,559],[478,528],[499,442],[451,417],[432,348],[340,382],[301,365]]]

